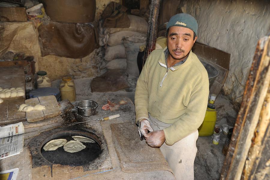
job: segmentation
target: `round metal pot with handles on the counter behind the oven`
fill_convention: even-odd
[[[81,116],[92,116],[96,113],[98,103],[91,100],[79,101],[76,103],[78,114]]]

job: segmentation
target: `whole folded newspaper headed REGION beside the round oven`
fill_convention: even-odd
[[[22,122],[0,127],[0,159],[22,152],[23,135],[19,135],[22,133],[24,133]]]

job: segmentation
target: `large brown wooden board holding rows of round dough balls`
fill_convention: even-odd
[[[0,87],[3,89],[11,87],[22,87],[25,91],[24,68],[0,67]],[[20,122],[26,117],[25,112],[18,111],[19,105],[24,103],[25,96],[3,98],[0,103],[0,125]]]

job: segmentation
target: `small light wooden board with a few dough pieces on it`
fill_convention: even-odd
[[[44,105],[44,110],[32,110],[26,112],[26,119],[29,123],[47,119],[49,117],[57,116],[61,113],[60,106],[54,95],[40,96],[31,99],[26,99],[25,104],[35,106],[37,104]]]

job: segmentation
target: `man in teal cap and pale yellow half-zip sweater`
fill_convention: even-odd
[[[197,129],[209,95],[208,74],[191,51],[197,29],[191,15],[174,15],[167,24],[167,47],[148,56],[135,91],[141,133],[149,146],[160,147],[182,180],[194,179]]]

